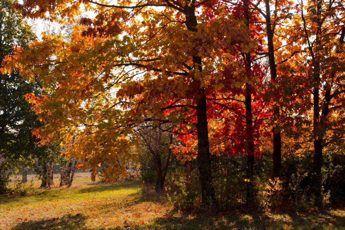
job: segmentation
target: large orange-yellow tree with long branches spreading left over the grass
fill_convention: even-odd
[[[71,21],[80,7],[69,1],[31,3],[16,8],[30,17]],[[225,67],[223,60],[254,46],[245,24],[223,8],[210,21],[198,16],[204,9],[217,10],[206,2],[83,3],[96,16],[81,20],[70,43],[44,35],[42,42],[5,60],[4,71],[18,67],[28,78],[38,75],[50,92],[30,96],[47,123],[35,134],[66,140],[85,127],[67,154],[74,152],[93,171],[107,161],[116,176],[125,173],[123,162],[131,157],[126,135],[133,127],[143,120],[164,122],[163,116],[189,123],[197,134],[202,200],[214,203],[206,92],[221,85],[213,73]]]

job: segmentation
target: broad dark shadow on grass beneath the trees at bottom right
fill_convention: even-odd
[[[332,214],[314,213],[315,216],[310,218],[291,217],[286,213],[280,213],[282,219],[273,219],[266,216],[263,212],[258,211],[255,213],[223,213],[223,214],[211,214],[201,215],[196,217],[188,217],[183,215],[180,217],[163,217],[156,219],[153,223],[145,226],[135,226],[134,230],[139,229],[169,229],[169,230],[344,230],[345,229],[345,217],[333,216]],[[326,216],[325,216],[326,215]],[[314,218],[315,217],[315,218]],[[110,230],[117,230],[119,228],[113,228]]]

